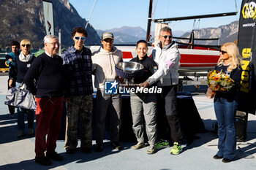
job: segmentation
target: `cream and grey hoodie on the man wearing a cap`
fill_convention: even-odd
[[[109,53],[102,47],[92,53],[92,74],[94,74],[94,86],[98,90],[105,90],[105,81],[116,80],[115,66],[123,61],[123,53],[113,46]]]

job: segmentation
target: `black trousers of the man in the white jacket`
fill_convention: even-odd
[[[158,139],[169,143],[181,143],[181,125],[177,111],[177,85],[163,86],[157,94],[157,134]]]

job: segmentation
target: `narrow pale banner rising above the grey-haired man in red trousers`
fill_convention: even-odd
[[[45,15],[46,34],[54,35],[53,3],[51,1],[42,0],[42,5],[43,5],[44,15]]]

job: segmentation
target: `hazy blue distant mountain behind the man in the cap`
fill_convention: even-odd
[[[97,30],[99,36],[101,36],[103,32],[112,32],[115,43],[135,43],[140,39],[146,39],[146,31],[141,27],[123,26],[121,28],[113,28],[105,31]]]

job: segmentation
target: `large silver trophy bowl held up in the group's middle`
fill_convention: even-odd
[[[121,62],[116,64],[116,74],[125,80],[132,80],[143,75],[144,66],[136,62]]]

